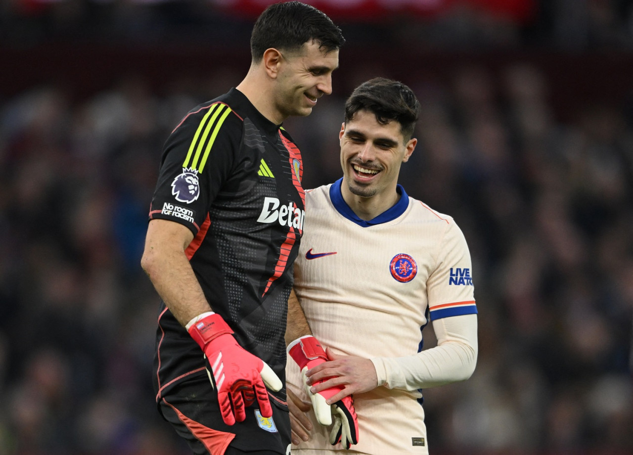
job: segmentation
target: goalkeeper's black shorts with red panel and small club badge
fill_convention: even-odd
[[[272,418],[261,417],[255,403],[246,408],[246,420],[226,425],[218,394],[205,375],[173,387],[158,408],[196,455],[290,454],[288,406],[270,394],[268,397]]]

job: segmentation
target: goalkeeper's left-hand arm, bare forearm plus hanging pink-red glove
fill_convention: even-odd
[[[192,239],[191,230],[175,221],[149,221],[141,266],[167,308],[200,346],[224,422],[244,421],[244,408],[254,402],[262,416],[270,417],[266,387],[277,391],[283,384],[270,366],[237,343],[222,316],[212,312],[185,254]]]

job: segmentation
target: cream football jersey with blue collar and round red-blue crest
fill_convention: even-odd
[[[428,454],[421,390],[409,387],[407,368],[390,360],[418,355],[429,321],[477,313],[467,243],[450,216],[400,185],[396,205],[363,221],[342,199],[341,182],[306,192],[294,290],[323,347],[371,358],[376,366],[379,387],[354,395],[359,442],[351,448]],[[309,401],[290,357],[286,375],[287,387]],[[310,418],[311,439],[293,447],[341,449],[330,445],[329,429],[313,413]]]

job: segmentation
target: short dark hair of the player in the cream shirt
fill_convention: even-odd
[[[381,125],[396,120],[406,142],[413,137],[420,102],[413,90],[402,82],[375,77],[356,87],[349,96],[345,103],[345,123],[361,110],[372,112]]]

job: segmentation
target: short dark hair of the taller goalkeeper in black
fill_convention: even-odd
[[[318,42],[326,53],[345,43],[341,29],[314,6],[298,1],[275,3],[268,6],[255,22],[251,56],[258,62],[270,47],[295,51],[308,41]]]

